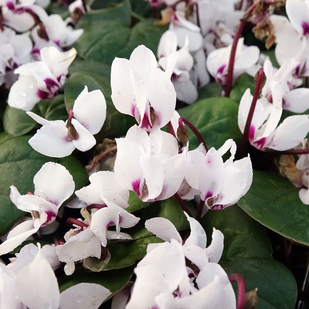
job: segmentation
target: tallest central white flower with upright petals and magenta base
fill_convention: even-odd
[[[144,45],[133,50],[130,59],[115,58],[112,63],[112,100],[116,109],[135,117],[139,127],[151,131],[162,128],[173,116],[176,92],[171,74],[177,52],[169,56],[167,70],[157,68],[152,51]]]

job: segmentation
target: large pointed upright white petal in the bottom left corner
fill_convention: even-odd
[[[57,278],[42,252],[39,251],[33,262],[18,273],[16,292],[28,308],[58,309]]]

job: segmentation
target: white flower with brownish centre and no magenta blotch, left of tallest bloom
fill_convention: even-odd
[[[95,145],[93,134],[99,133],[104,124],[106,102],[100,90],[88,93],[85,86],[66,122],[48,121],[33,112],[27,114],[42,125],[29,140],[32,148],[43,155],[62,158],[70,155],[75,148],[87,151]]]

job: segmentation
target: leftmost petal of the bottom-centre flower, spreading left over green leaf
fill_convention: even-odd
[[[151,218],[146,220],[145,227],[148,231],[163,239],[164,241],[171,241],[176,239],[179,243],[182,243],[182,238],[176,230],[173,223],[165,218]]]

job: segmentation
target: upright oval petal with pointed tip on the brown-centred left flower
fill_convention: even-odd
[[[90,133],[99,133],[106,118],[106,101],[102,91],[94,90],[88,93],[85,86],[74,102],[73,113],[77,121]]]

